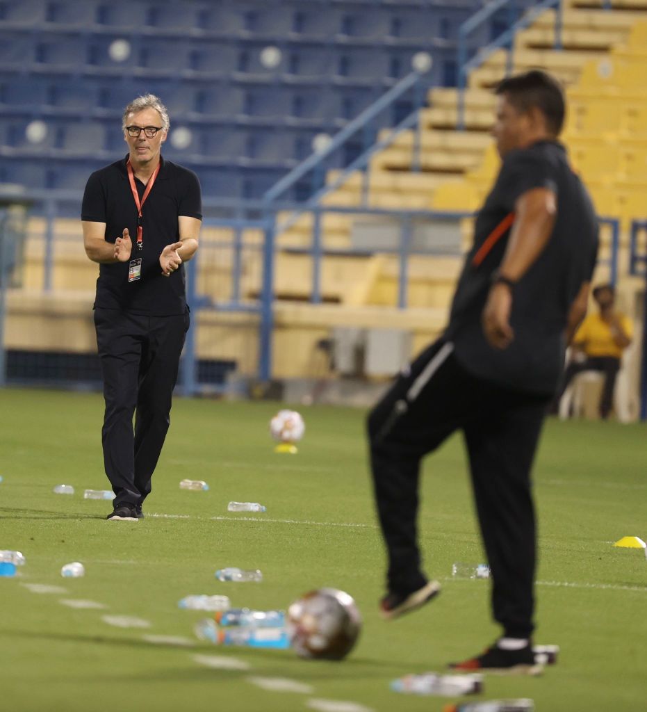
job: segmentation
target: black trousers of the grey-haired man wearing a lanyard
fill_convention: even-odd
[[[94,318],[105,399],[105,473],[115,507],[141,506],[169,429],[189,314],[149,317],[95,309]]]

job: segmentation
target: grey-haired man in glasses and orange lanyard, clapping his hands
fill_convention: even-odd
[[[198,248],[202,216],[196,175],[160,154],[169,131],[162,102],[152,94],[132,101],[122,130],[129,153],[90,176],[81,219],[85,253],[100,265],[102,445],[115,493],[107,518],[137,521],[169,429],[189,328],[183,263]]]

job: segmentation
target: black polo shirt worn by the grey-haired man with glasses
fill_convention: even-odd
[[[141,278],[128,281],[129,262],[99,265],[95,308],[135,314],[184,314],[184,265],[162,276],[159,255],[179,240],[178,217],[202,219],[200,183],[196,174],[160,157],[157,180],[142,207],[143,249],[138,250],[137,206],[126,171],[127,157],[95,171],[85,185],[81,219],[105,222],[105,240],[114,243],[128,228],[131,260],[142,259]],[[140,201],[146,187],[135,178]]]

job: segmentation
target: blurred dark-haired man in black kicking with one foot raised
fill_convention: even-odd
[[[496,89],[503,165],[479,211],[443,337],[369,415],[375,496],[389,559],[382,616],[431,600],[416,513],[421,458],[463,430],[503,637],[458,670],[537,671],[530,470],[564,347],[586,312],[597,224],[557,136],[564,95],[541,71]]]

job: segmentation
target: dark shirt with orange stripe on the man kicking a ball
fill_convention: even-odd
[[[485,340],[481,326],[490,280],[503,260],[515,202],[540,187],[556,194],[557,218],[545,250],[513,290],[515,339],[498,350]],[[454,343],[458,362],[505,387],[552,394],[564,365],[569,311],[582,283],[591,280],[597,249],[594,208],[564,147],[540,141],[510,152],[476,218],[474,244],[454,295],[446,338]]]

